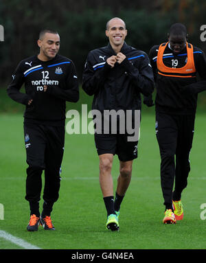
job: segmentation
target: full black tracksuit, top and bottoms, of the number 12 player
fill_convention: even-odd
[[[19,91],[23,83],[25,93]],[[7,91],[12,100],[26,105],[24,136],[29,167],[25,198],[33,209],[31,214],[38,214],[38,207],[34,204],[41,198],[43,170],[43,199],[50,204],[51,209],[58,200],[66,101],[77,102],[79,98],[76,67],[69,58],[58,54],[48,61],[39,60],[38,56],[26,58],[14,71]],[[31,99],[32,104],[28,105]]]

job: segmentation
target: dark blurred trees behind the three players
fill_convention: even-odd
[[[80,80],[88,52],[107,45],[106,22],[114,16],[126,22],[126,43],[146,53],[166,41],[170,25],[177,22],[186,25],[188,41],[206,52],[200,40],[205,8],[205,0],[1,0],[5,35],[0,43],[0,87],[10,81],[20,60],[38,54],[38,33],[47,27],[59,32],[60,54],[75,62]]]

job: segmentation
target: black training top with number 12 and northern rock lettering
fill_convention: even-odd
[[[23,84],[25,93],[20,92]],[[26,106],[25,124],[65,126],[66,101],[79,99],[76,67],[72,60],[58,54],[49,61],[37,56],[26,58],[14,71],[7,92],[12,100]],[[31,99],[32,104],[28,105]]]

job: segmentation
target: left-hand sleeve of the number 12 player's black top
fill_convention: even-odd
[[[8,85],[7,93],[10,96],[10,98],[15,102],[19,102],[21,104],[27,105],[29,100],[32,99],[32,97],[30,95],[20,92],[23,83],[24,83],[24,75],[23,75],[22,65],[20,62],[12,75],[12,81]]]

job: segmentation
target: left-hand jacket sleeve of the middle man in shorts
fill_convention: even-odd
[[[104,65],[100,65],[100,67],[95,67],[94,69],[94,63],[93,54],[89,52],[82,76],[82,89],[88,95],[98,93],[100,87],[104,85],[108,71],[111,69],[106,62]]]

